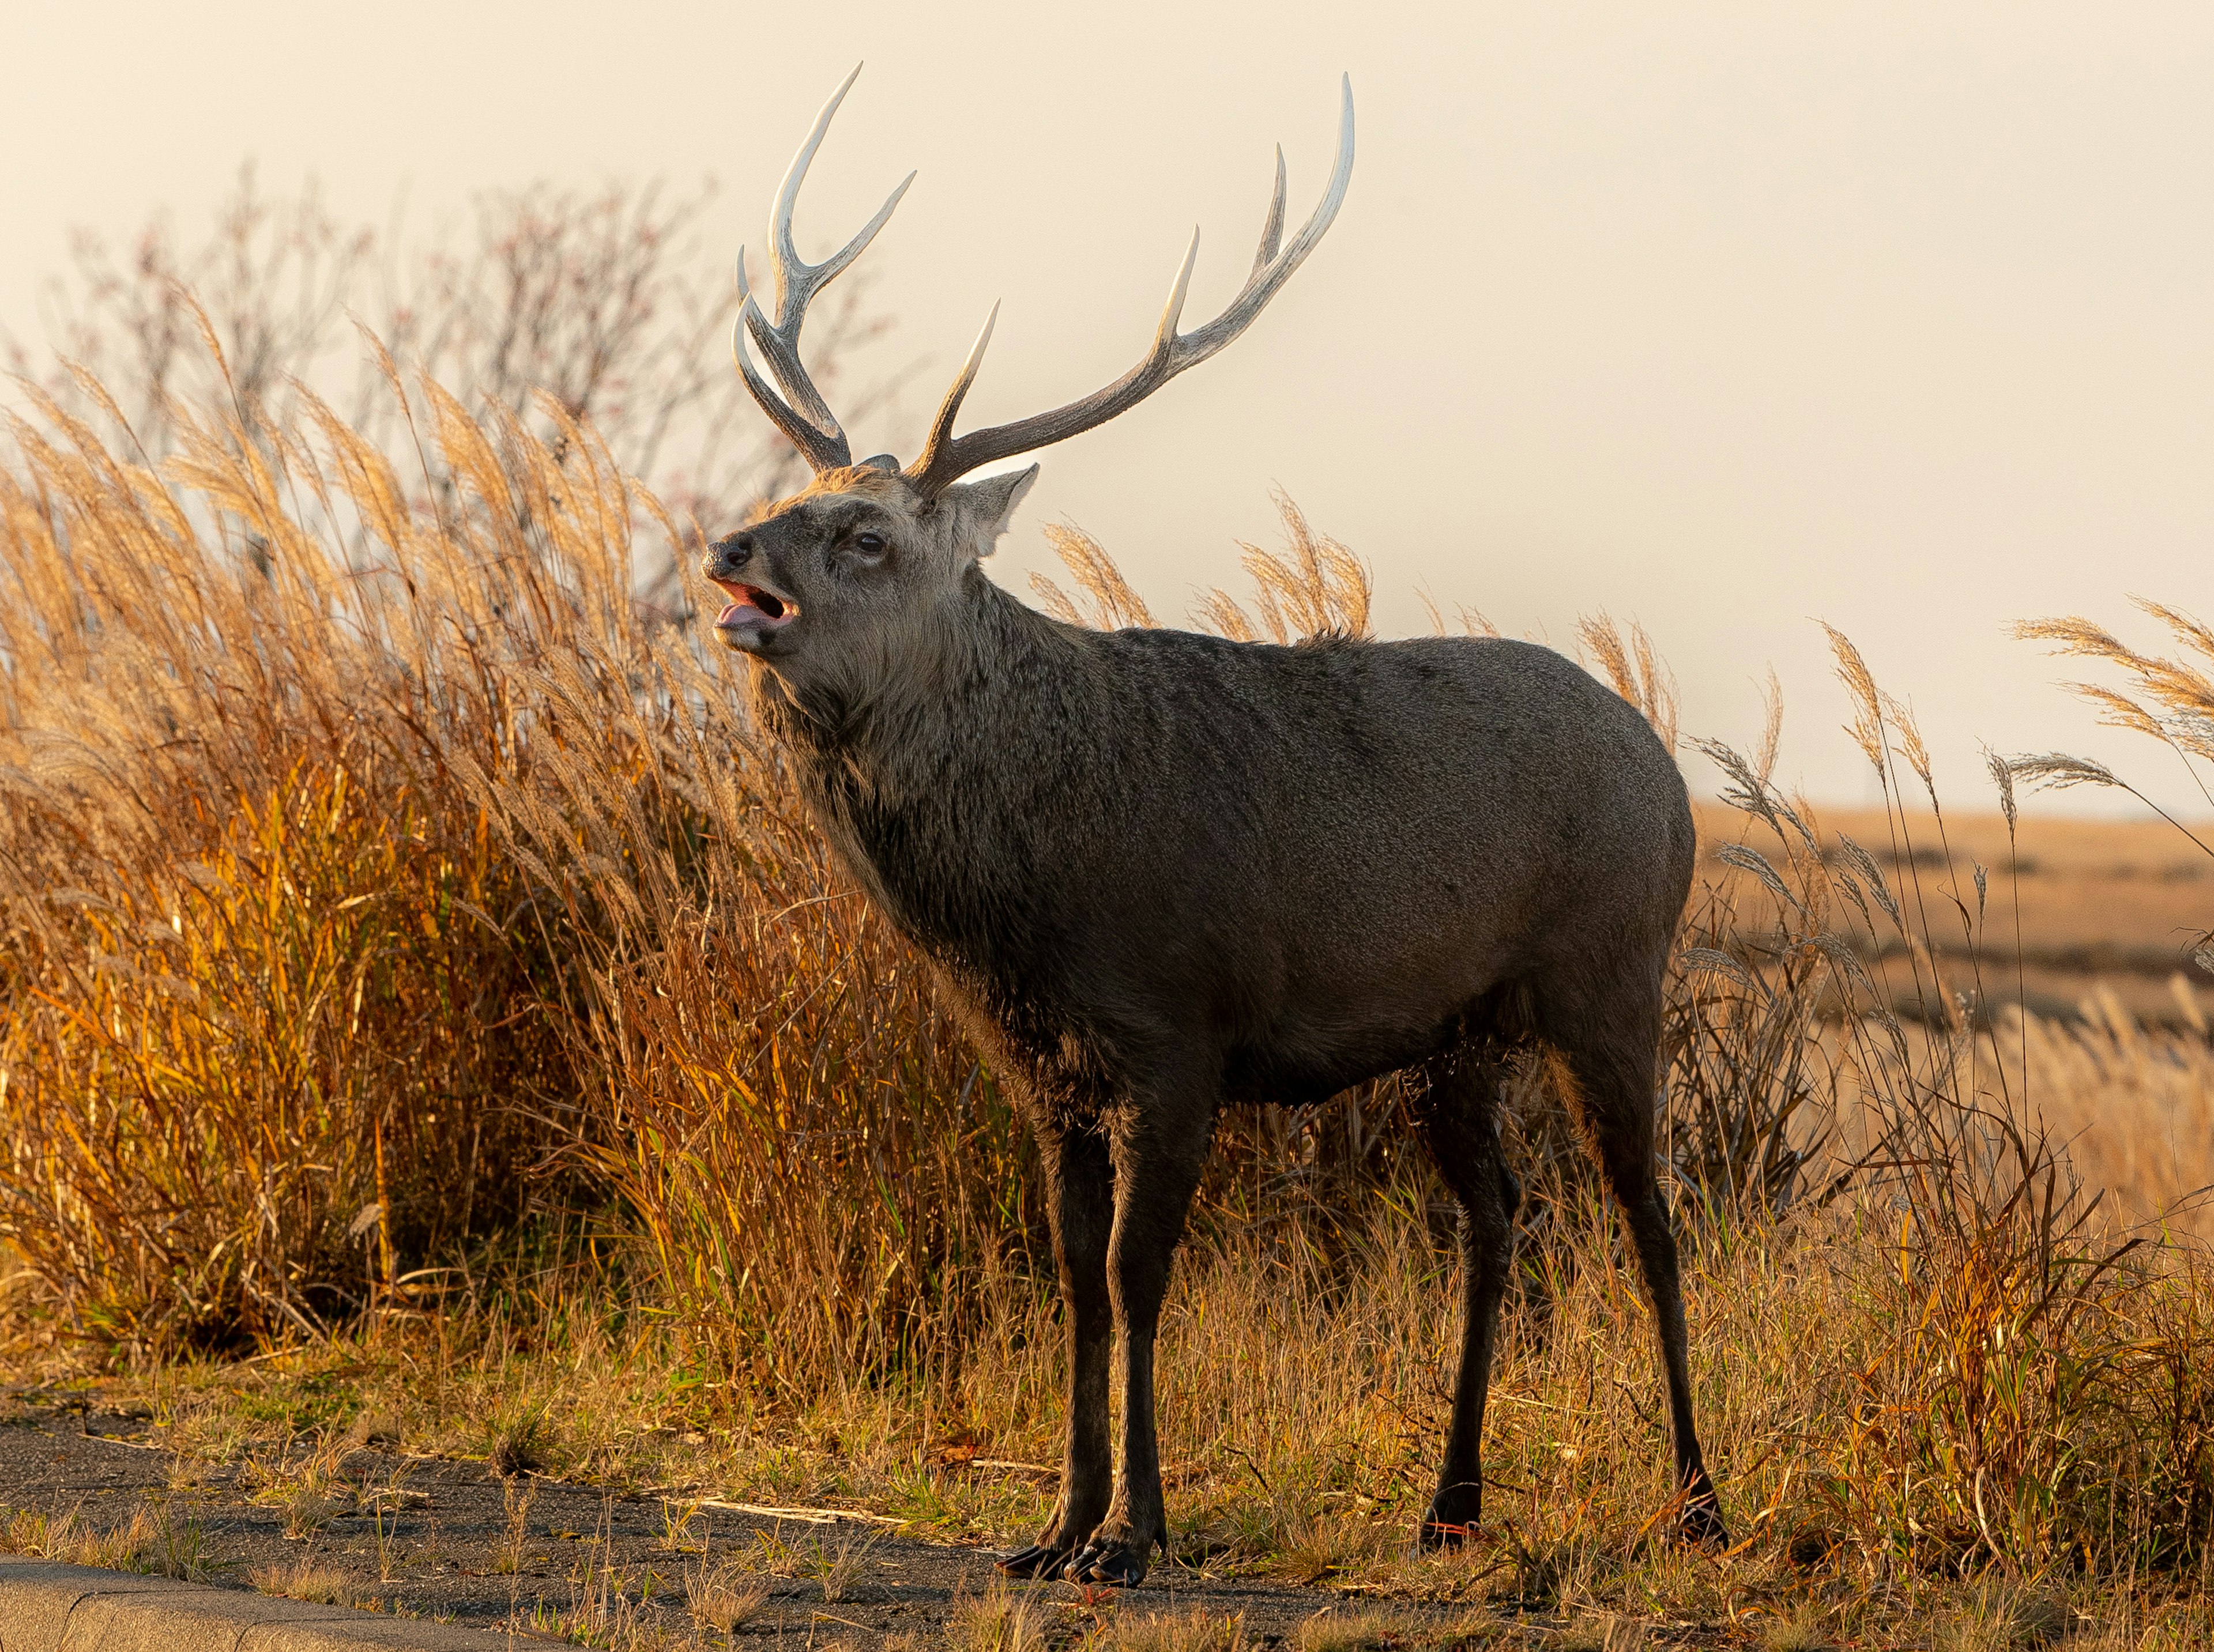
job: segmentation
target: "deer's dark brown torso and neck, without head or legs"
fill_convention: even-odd
[[[1559,653],[1224,642],[1049,620],[979,569],[881,698],[764,682],[817,819],[1054,1109],[1147,1052],[1322,1101],[1501,985],[1658,972],[1691,815],[1643,717]]]

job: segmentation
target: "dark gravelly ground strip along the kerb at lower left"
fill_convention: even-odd
[[[314,1530],[288,1537],[288,1524],[303,1526],[297,1501],[257,1499],[239,1464],[177,1462],[133,1417],[40,1404],[38,1395],[20,1395],[20,1406],[13,1426],[0,1426],[0,1530],[15,1510],[49,1519],[75,1512],[80,1528],[120,1530],[155,1508],[168,1541],[190,1552],[210,1583],[252,1588],[255,1572],[314,1563],[350,1577],[387,1612],[558,1641],[651,1648],[664,1632],[689,1643],[689,1586],[708,1574],[742,1597],[762,1592],[733,1643],[764,1648],[877,1648],[901,1636],[925,1648],[1012,1645],[976,1634],[981,1614],[1012,1610],[1027,1610],[1047,1643],[1094,1639],[1118,1619],[1129,1628],[1151,1614],[1202,1614],[1242,1619],[1249,1645],[1295,1645],[1317,1614],[1379,1605],[1167,1561],[1138,1590],[1010,1590],[994,1581],[994,1552],[914,1541],[863,1517],[615,1497],[529,1470],[503,1477],[478,1462],[374,1448],[343,1462],[343,1481],[372,1490],[348,1499],[354,1506],[345,1512],[317,1508]],[[1457,1639],[1448,1625],[1470,1617],[1450,1603],[1393,1601],[1390,1610],[1446,1641]],[[1501,1628],[1492,1617],[1490,1634]],[[1537,1619],[1523,1628],[1543,1630]]]

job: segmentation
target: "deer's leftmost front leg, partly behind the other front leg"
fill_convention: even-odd
[[[1096,1127],[1065,1129],[1054,1121],[1041,1123],[1036,1136],[1045,1160],[1045,1209],[1054,1227],[1061,1302],[1069,1324],[1069,1431],[1061,1457],[1061,1501],[1038,1541],[999,1563],[1010,1577],[1058,1577],[1107,1517],[1114,1495],[1114,1450],[1107,1437],[1114,1169],[1107,1138]]]

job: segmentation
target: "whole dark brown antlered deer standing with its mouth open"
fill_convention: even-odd
[[[739,252],[737,372],[813,481],[757,505],[700,571],[726,598],[713,636],[748,660],[755,729],[1036,1138],[1067,1433],[1052,1517],[1001,1570],[1145,1579],[1169,1546],[1156,1340],[1215,1121],[1384,1074],[1404,1074],[1404,1114],[1459,1205],[1461,1360],[1417,1543],[1463,1543],[1483,1506],[1483,1404],[1521,1207],[1501,1092],[1530,1052],[1565,1074],[1563,1105],[1641,1264],[1667,1375],[1674,1528],[1727,1543],[1654,1149],[1691,810],[1645,717],[1532,642],[1096,631],[1038,613],[983,569],[1038,465],[976,472],[1078,436],[1207,361],[1322,241],[1353,173],[1351,78],[1320,206],[1286,241],[1277,148],[1260,250],[1222,314],[1184,330],[1193,230],[1129,372],[954,434],[994,303],[901,465],[852,458],[799,357],[808,303],[914,182],[821,264],[799,257],[793,206],[857,75],[775,195],[775,319]]]

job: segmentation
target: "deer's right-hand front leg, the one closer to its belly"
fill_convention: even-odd
[[[1067,1566],[1067,1577],[1078,1583],[1140,1583],[1153,1546],[1169,1543],[1153,1426],[1153,1333],[1160,1329],[1169,1262],[1207,1165],[1211,1134],[1211,1096],[1193,1096],[1191,1105],[1153,1098],[1151,1105],[1122,1109],[1114,1121],[1116,1187],[1107,1284],[1122,1360],[1122,1470],[1107,1519]]]

